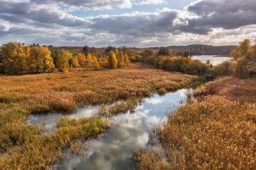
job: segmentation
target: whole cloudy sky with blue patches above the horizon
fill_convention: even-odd
[[[0,0],[0,46],[222,46],[245,38],[256,38],[255,0]]]

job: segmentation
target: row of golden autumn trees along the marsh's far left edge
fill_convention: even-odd
[[[17,42],[3,44],[1,48],[0,73],[16,75],[19,73],[66,72],[72,68],[110,69],[129,65],[129,50],[108,46],[99,56],[97,48],[85,46],[77,54],[69,50],[54,50],[53,46],[32,44],[25,46]]]

